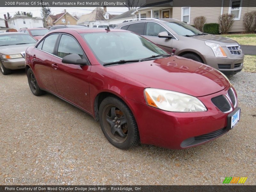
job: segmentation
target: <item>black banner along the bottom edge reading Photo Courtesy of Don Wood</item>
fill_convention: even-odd
[[[172,192],[251,192],[256,191],[255,185],[159,185],[159,186],[147,186],[147,185],[6,185],[0,186],[0,191],[5,192],[123,192],[123,191],[135,191],[135,192],[160,192],[160,191],[172,191]]]

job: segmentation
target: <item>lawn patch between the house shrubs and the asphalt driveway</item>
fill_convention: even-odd
[[[241,45],[256,45],[256,34],[220,35],[237,41]]]

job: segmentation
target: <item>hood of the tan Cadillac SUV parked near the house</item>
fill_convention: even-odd
[[[196,38],[202,41],[209,41],[212,43],[220,44],[220,46],[225,47],[227,45],[235,45],[238,44],[236,41],[229,39],[227,37],[217,36],[217,35],[200,35],[200,36],[192,36],[192,38]]]

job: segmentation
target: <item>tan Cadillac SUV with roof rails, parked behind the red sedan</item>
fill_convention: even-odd
[[[226,75],[235,74],[243,68],[244,54],[236,41],[202,33],[185,22],[142,19],[121,23],[116,28],[135,32],[168,52],[204,63]]]

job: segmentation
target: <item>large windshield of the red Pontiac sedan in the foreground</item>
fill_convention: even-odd
[[[147,39],[131,32],[82,33],[81,36],[101,64],[168,54]]]

